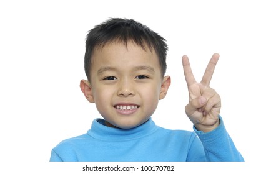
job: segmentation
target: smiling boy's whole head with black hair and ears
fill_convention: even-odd
[[[162,37],[132,20],[111,19],[89,32],[88,81],[80,86],[107,126],[129,129],[152,116],[170,85],[166,51]]]

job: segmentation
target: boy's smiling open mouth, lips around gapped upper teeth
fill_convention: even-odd
[[[118,106],[118,108],[117,108]],[[120,109],[119,106],[126,106],[126,109]],[[134,114],[135,112],[137,112],[137,110],[140,108],[139,104],[135,104],[135,103],[117,103],[117,104],[114,104],[114,109],[116,109],[116,111],[119,113],[119,114],[122,114],[122,115],[130,115],[130,114]],[[127,109],[129,108],[129,109]]]

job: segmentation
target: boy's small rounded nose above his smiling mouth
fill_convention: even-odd
[[[134,96],[134,84],[132,81],[124,79],[119,82],[119,90],[117,92],[118,96],[128,97]]]

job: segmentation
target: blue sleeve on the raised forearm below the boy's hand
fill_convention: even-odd
[[[225,129],[222,117],[219,116],[220,125],[210,132],[198,131],[195,133],[202,142],[207,161],[212,162],[243,162],[244,158],[236,149],[234,142]]]

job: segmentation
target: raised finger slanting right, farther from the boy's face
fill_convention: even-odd
[[[210,62],[207,65],[207,68],[204,72],[204,76],[201,81],[201,83],[203,83],[204,85],[210,85],[210,80],[212,80],[212,75],[214,74],[214,69],[219,60],[219,57],[220,55],[218,53],[214,53],[214,55],[212,55],[212,58],[210,59]]]

